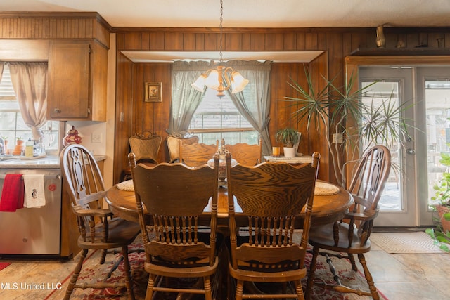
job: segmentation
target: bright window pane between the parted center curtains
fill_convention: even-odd
[[[217,91],[207,89],[198,106],[189,132],[195,133],[201,143],[215,144],[224,138],[227,144],[257,144],[259,134],[252,125],[238,112],[227,94],[217,97]]]

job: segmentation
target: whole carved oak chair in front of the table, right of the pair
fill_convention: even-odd
[[[263,162],[255,167],[231,167],[226,155],[229,197],[229,275],[236,280],[236,300],[248,298],[304,299],[301,279],[307,275],[311,209],[319,153],[311,163],[293,166],[286,162]],[[248,216],[248,236],[238,235],[234,198]],[[294,240],[295,221],[304,208],[302,237]],[[247,225],[247,224],[246,224]],[[263,292],[257,283],[281,284]],[[293,283],[288,289],[288,283]],[[290,285],[291,286],[291,285]],[[262,295],[266,293],[266,295]]]

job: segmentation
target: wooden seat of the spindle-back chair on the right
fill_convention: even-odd
[[[309,244],[321,249],[328,249],[335,252],[347,252],[352,254],[366,253],[371,249],[371,241],[367,240],[366,244],[360,245],[358,230],[355,228],[353,232],[353,240],[351,247],[349,247],[348,233],[349,224],[339,223],[339,242],[335,245],[333,239],[333,223],[322,226],[314,226],[309,230]]]

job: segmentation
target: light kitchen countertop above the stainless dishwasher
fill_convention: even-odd
[[[94,155],[97,162],[106,159],[105,155]],[[59,169],[59,156],[48,155],[37,159],[13,159],[0,161],[0,169]]]

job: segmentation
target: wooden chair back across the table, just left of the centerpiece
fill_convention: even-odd
[[[212,159],[218,149],[219,140],[216,141],[216,145],[207,145],[204,143],[186,144],[179,141],[180,162],[189,167],[206,164],[208,160]]]

